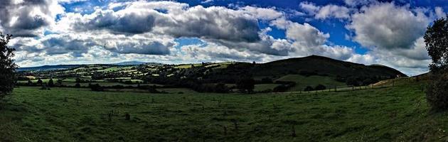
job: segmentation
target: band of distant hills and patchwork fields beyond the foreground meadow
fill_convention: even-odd
[[[132,65],[138,64],[138,65]],[[67,69],[68,67],[73,67]],[[60,70],[67,69],[67,70]],[[362,65],[312,55],[304,58],[290,58],[261,64],[248,62],[202,62],[196,64],[166,65],[154,62],[120,62],[104,65],[57,65],[21,70],[19,82],[41,79],[58,79],[68,86],[71,80],[82,79],[83,83],[119,82],[134,84],[162,84],[169,87],[188,87],[196,91],[213,90],[218,83],[225,83],[230,90],[243,77],[255,80],[255,90],[271,92],[276,87],[282,91],[298,92],[306,87],[334,88],[346,85],[363,86],[380,80],[406,76],[383,65]],[[121,85],[121,84],[120,84]],[[287,86],[281,86],[287,85]],[[128,86],[128,85],[126,85]],[[324,86],[324,87],[322,87]],[[279,88],[275,89],[279,90]]]

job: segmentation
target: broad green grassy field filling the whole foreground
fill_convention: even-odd
[[[0,141],[448,140],[448,114],[428,111],[417,83],[250,95],[20,87],[1,105]]]

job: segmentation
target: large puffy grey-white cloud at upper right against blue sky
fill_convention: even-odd
[[[381,3],[364,6],[353,14],[347,28],[356,34],[353,40],[363,46],[407,49],[425,33],[429,21],[422,11]]]

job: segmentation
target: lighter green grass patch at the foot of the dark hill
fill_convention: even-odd
[[[283,77],[280,77],[276,81],[296,82],[296,85],[288,90],[291,92],[299,92],[301,90],[303,91],[306,86],[316,87],[318,84],[323,84],[327,88],[334,87],[335,85],[346,85],[343,82],[337,82],[333,77],[317,75],[311,75],[309,77],[303,75],[285,75]]]

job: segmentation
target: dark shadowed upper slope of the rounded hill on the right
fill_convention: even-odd
[[[311,55],[304,58],[289,58],[267,62],[254,67],[256,76],[288,75],[288,74],[309,74],[328,76],[382,76],[405,77],[402,72],[383,65],[363,65],[354,62],[345,62],[326,58],[318,55]]]

